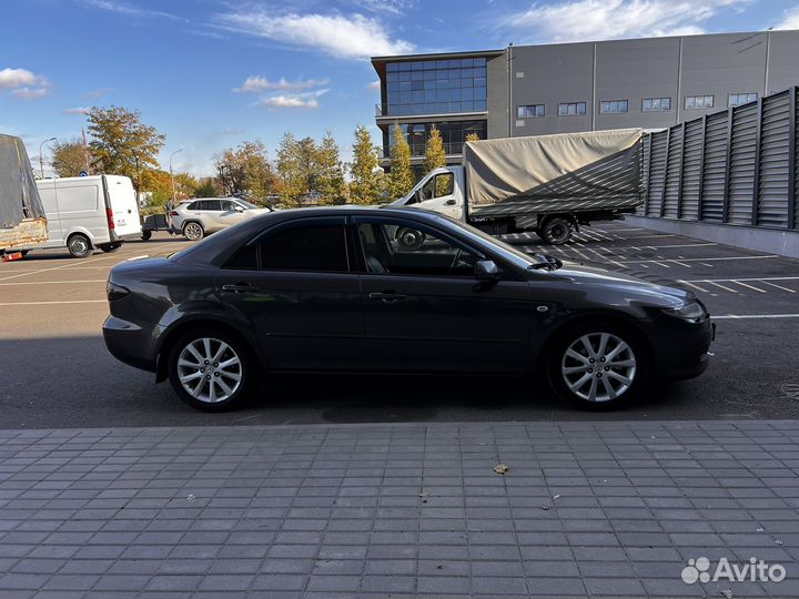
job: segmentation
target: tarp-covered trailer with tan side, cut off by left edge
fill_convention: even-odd
[[[47,217],[24,143],[0,134],[0,256],[20,257],[20,247],[45,242]]]

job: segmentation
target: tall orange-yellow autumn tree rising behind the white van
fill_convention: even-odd
[[[141,113],[121,106],[89,111],[92,170],[130,176],[139,190],[144,171],[159,169],[166,136],[141,122]]]

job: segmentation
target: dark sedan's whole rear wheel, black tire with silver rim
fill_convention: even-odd
[[[241,404],[256,379],[250,347],[223,327],[183,333],[172,344],[168,361],[174,392],[203,412],[225,412]]]

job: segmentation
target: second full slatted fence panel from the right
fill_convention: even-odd
[[[758,104],[746,104],[732,111],[727,209],[727,222],[730,224],[754,224],[751,216],[758,118]]]

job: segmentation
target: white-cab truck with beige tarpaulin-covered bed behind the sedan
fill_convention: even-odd
[[[461,165],[435,169],[393,205],[447,214],[492,234],[534,231],[567,243],[580,225],[623,219],[645,201],[643,130],[466,142]],[[418,233],[397,231],[405,245]]]

